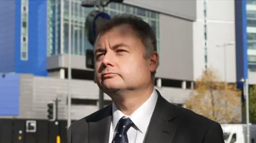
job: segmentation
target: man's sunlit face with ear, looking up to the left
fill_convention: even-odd
[[[158,54],[145,58],[145,46],[127,25],[100,35],[94,53],[97,83],[105,92],[148,85],[158,65]]]

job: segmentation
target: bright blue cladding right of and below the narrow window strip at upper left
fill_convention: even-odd
[[[47,76],[47,1],[29,1],[28,61],[20,60],[17,46],[16,72]]]

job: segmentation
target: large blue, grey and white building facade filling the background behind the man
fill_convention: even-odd
[[[98,109],[99,89],[93,82],[93,69],[86,68],[85,57],[86,49],[93,47],[87,41],[84,23],[94,8],[81,7],[80,0],[71,1],[71,11],[68,7],[68,0],[0,1],[0,19],[5,21],[0,23],[0,49],[4,51],[0,53],[0,72],[21,73],[15,78],[19,94],[13,96],[19,101],[18,117],[46,118],[47,102],[61,98],[59,112],[66,118],[70,12],[71,96],[84,100],[84,104],[74,103],[72,112],[79,119]],[[132,13],[153,28],[160,56],[156,88],[169,102],[185,102],[194,81],[208,67],[216,69],[222,81],[236,83],[248,75],[250,83],[256,84],[253,62],[251,57],[247,59],[244,44],[244,1],[124,0],[108,5],[105,12],[111,16]],[[249,40],[253,38],[248,39],[253,45]]]

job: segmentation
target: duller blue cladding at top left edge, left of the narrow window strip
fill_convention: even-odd
[[[14,72],[15,1],[0,1],[0,72]]]

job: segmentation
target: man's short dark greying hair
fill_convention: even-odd
[[[145,46],[145,58],[152,55],[155,51],[157,52],[156,35],[153,29],[143,19],[132,14],[120,14],[114,16],[108,22],[103,24],[97,33],[101,35],[124,24],[129,25],[134,30],[138,38],[140,38],[142,41],[142,44]],[[153,72],[152,75],[154,78],[155,72]]]

